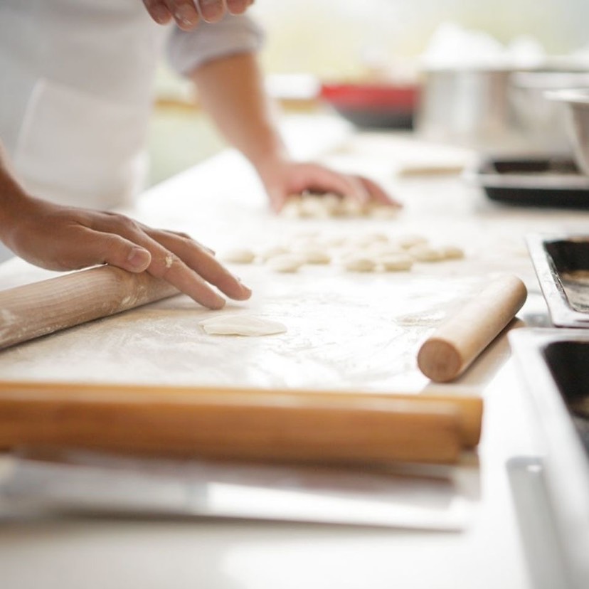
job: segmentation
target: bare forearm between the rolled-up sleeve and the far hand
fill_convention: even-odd
[[[225,139],[251,161],[261,176],[269,166],[287,158],[253,53],[206,63],[191,78],[203,107]]]

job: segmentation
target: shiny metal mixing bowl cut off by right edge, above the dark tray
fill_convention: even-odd
[[[579,169],[589,176],[589,88],[558,90],[547,96],[561,102],[566,110],[566,126]]]

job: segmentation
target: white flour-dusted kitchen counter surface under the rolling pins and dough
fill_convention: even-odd
[[[449,385],[433,385],[420,374],[415,354],[437,324],[503,272],[519,275],[529,289],[519,317],[546,325],[523,236],[583,231],[589,213],[499,206],[460,176],[399,176],[403,159],[472,161],[472,154],[406,134],[351,134],[329,119],[302,118],[287,125],[287,137],[301,156],[378,179],[403,211],[386,221],[275,218],[243,159],[225,152],[156,186],[129,213],[186,230],[220,254],[317,233],[352,239],[378,232],[460,245],[466,258],[386,275],[346,273],[337,265],[305,267],[296,275],[235,267],[255,294],[223,313],[276,319],[286,334],[206,336],[198,322],[213,312],[174,297],[3,351],[0,378],[479,394],[482,442],[451,473],[469,505],[468,519],[457,531],[428,531],[192,517],[15,518],[4,507],[3,587],[524,589],[556,578],[558,566],[549,559],[526,565],[530,551],[550,551],[529,541],[535,524],[526,523],[521,509],[527,488],[521,474],[533,471],[526,460],[537,449],[506,334]],[[0,286],[49,275],[10,260],[0,266]],[[0,462],[0,474],[9,476],[9,463]]]

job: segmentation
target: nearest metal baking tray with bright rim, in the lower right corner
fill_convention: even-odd
[[[541,467],[566,587],[589,585],[589,333],[519,329],[509,334],[534,408]],[[538,514],[540,517],[542,514]]]

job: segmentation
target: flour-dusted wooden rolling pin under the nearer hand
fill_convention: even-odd
[[[147,272],[100,266],[0,292],[0,349],[171,297]]]

